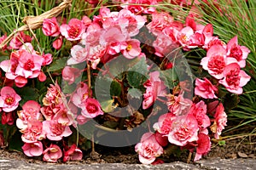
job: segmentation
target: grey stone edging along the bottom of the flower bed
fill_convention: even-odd
[[[28,163],[15,159],[6,159],[0,157],[0,170],[72,170],[72,169],[86,169],[86,170],[256,170],[255,159],[212,159],[201,160],[194,164],[187,164],[180,161],[160,165],[141,165],[141,164],[122,164],[122,163],[106,163],[106,164],[55,164],[55,163]]]

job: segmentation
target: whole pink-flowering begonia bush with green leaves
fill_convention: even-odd
[[[2,48],[9,59],[0,63],[0,145],[44,161],[81,160],[90,140],[104,144],[98,131],[139,127],[133,144],[143,164],[161,162],[170,147],[195,152],[194,161],[206,155],[227,126],[225,95],[242,94],[250,81],[243,71],[250,50],[239,36],[215,35],[200,14],[173,16],[157,8],[161,2],[86,1],[102,6],[93,15],[44,19],[50,49],[30,31],[15,34]],[[195,54],[197,70],[187,61]]]

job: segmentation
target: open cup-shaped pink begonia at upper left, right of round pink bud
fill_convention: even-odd
[[[85,26],[82,20],[71,19],[67,24],[61,25],[61,35],[66,37],[69,41],[76,41],[81,39],[81,35],[85,32]]]

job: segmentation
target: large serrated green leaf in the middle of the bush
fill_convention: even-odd
[[[143,83],[148,80],[148,65],[144,58],[131,66],[127,73],[127,81],[132,88],[143,89]]]

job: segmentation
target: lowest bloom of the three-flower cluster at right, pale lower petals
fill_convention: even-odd
[[[245,71],[240,70],[240,65],[231,63],[224,68],[224,79],[218,81],[223,84],[228,91],[234,94],[242,94],[242,88],[251,79]]]

